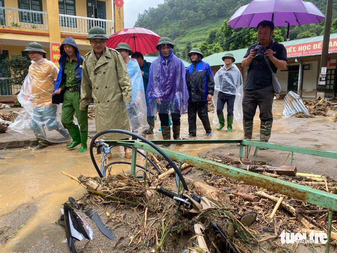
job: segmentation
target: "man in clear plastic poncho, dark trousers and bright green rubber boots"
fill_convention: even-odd
[[[214,76],[215,92],[213,104],[216,110],[220,125],[217,130],[221,130],[225,125],[223,114],[224,105],[227,104],[227,132],[232,132],[232,124],[235,118],[237,124],[242,129],[242,75],[238,67],[233,63],[234,55],[226,53],[222,60],[224,65]],[[213,123],[217,123],[214,115]]]

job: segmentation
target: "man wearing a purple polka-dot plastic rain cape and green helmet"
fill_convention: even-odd
[[[169,38],[159,39],[157,49],[160,56],[151,64],[147,88],[148,110],[152,116],[158,111],[164,140],[171,139],[169,113],[173,122],[173,138],[180,140],[180,114],[184,113],[188,106],[185,67],[183,62],[173,54],[173,47]]]

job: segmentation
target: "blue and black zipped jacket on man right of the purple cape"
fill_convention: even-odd
[[[185,74],[188,102],[207,101],[208,94],[214,95],[214,79],[210,65],[204,61],[192,62]]]

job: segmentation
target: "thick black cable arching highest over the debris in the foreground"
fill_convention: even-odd
[[[90,146],[89,146],[89,152],[90,152],[90,158],[91,158],[91,161],[92,163],[94,164],[94,167],[98,173],[98,175],[100,177],[103,177],[100,169],[98,168],[97,164],[96,164],[96,161],[95,161],[95,157],[94,157],[94,152],[93,152],[93,146],[94,146],[94,143],[95,141],[98,139],[99,136],[101,135],[104,135],[104,134],[110,134],[110,133],[119,133],[119,134],[126,134],[126,135],[129,135],[129,136],[132,136],[132,137],[135,137],[141,141],[143,141],[144,143],[148,144],[150,147],[152,147],[153,149],[155,149],[163,158],[165,158],[166,161],[168,161],[168,163],[170,163],[170,165],[172,166],[172,168],[176,171],[176,173],[178,174],[179,178],[180,178],[180,181],[184,187],[184,189],[186,191],[188,191],[188,186],[186,184],[186,181],[183,177],[183,175],[181,174],[180,170],[177,168],[176,164],[171,160],[170,157],[167,156],[167,154],[161,150],[157,145],[153,144],[151,141],[149,141],[148,139],[138,135],[138,134],[135,134],[135,133],[132,133],[130,131],[126,131],[126,130],[121,130],[121,129],[111,129],[111,130],[104,130],[102,132],[99,132],[98,134],[96,134],[91,142],[90,142]]]

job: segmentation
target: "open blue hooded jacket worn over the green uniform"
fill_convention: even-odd
[[[64,69],[65,61],[66,61],[68,55],[67,55],[66,52],[64,52],[64,49],[63,49],[64,44],[68,44],[68,45],[74,46],[76,48],[77,64],[75,66],[74,71],[75,71],[75,78],[76,78],[76,82],[77,82],[77,89],[78,89],[78,92],[81,93],[83,56],[80,55],[79,48],[76,45],[75,40],[73,38],[69,37],[69,36],[66,37],[63,40],[63,42],[60,46],[60,54],[61,54],[61,57],[59,59],[60,71],[59,71],[59,74],[58,74],[57,79],[56,79],[54,91],[57,90],[61,86],[61,84],[65,82],[65,75],[64,75],[63,69]],[[62,90],[60,94],[52,95],[52,103],[53,104],[63,103],[64,92],[65,92],[65,90]]]

